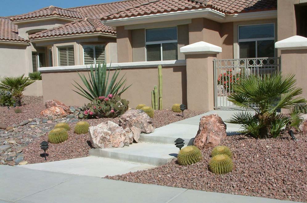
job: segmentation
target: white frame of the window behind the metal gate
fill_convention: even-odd
[[[267,37],[267,38],[252,38],[252,39],[239,39],[240,38],[240,33],[239,33],[239,27],[244,27],[244,26],[251,26],[251,25],[268,25],[268,24],[273,24],[274,26],[274,37]],[[275,28],[275,23],[257,23],[257,24],[244,24],[244,25],[238,25],[237,27],[237,39],[238,39],[238,58],[240,57],[240,42],[255,42],[255,56],[256,58],[258,57],[258,48],[257,48],[257,42],[258,41],[265,41],[265,40],[274,40],[274,43],[276,42],[276,28]],[[275,49],[275,47],[274,47]],[[274,56],[276,56],[276,51],[274,51]]]

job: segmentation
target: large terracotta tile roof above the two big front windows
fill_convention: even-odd
[[[125,9],[104,13],[102,19],[119,19],[132,16],[213,8],[226,14],[276,10],[277,0],[147,0]]]

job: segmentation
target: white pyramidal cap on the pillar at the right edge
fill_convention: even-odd
[[[275,48],[280,50],[307,49],[307,38],[295,35],[276,42]]]

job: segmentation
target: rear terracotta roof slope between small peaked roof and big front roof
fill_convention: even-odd
[[[111,12],[117,11],[119,9],[127,9],[128,6],[133,6],[140,2],[140,0],[126,0],[126,1],[117,1],[117,2],[109,2],[109,3],[101,3],[95,5],[88,6],[78,6],[69,8],[69,10],[78,11],[92,18],[100,18],[101,15]]]

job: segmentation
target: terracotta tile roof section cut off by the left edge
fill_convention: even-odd
[[[0,40],[27,42],[18,36],[18,26],[5,17],[0,17]]]

